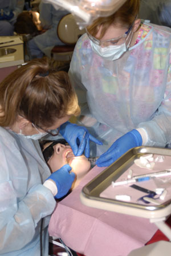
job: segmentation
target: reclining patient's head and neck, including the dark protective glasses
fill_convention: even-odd
[[[66,164],[72,167],[72,172],[75,173],[75,181],[72,183],[72,189],[79,185],[82,178],[91,168],[91,163],[85,155],[75,157],[70,145],[68,145],[65,139],[42,141],[42,152],[52,173]]]

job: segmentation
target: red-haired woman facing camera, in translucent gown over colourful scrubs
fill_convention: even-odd
[[[103,146],[91,145],[109,166],[136,146],[171,143],[171,29],[138,19],[139,0],[97,18],[76,44],[69,70],[81,125]]]

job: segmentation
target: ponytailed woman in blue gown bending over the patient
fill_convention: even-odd
[[[68,122],[79,113],[67,73],[54,70],[47,58],[28,62],[0,83],[0,255],[48,255],[48,217],[75,174],[69,165],[51,174],[38,139],[60,132],[76,153],[85,131],[84,147],[89,139],[97,142]]]

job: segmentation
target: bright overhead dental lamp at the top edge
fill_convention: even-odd
[[[107,17],[117,11],[126,0],[46,0],[56,9],[63,7],[72,13],[80,29],[98,17]]]

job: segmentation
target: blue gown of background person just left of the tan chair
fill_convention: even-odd
[[[44,54],[51,57],[51,50],[55,45],[64,45],[64,43],[58,38],[57,27],[60,19],[62,19],[64,15],[68,14],[68,11],[62,9],[62,7],[55,9],[51,3],[44,1],[40,2],[39,11],[39,18],[42,23],[42,27],[43,29],[47,29],[47,31],[43,34],[37,35],[33,40]]]

